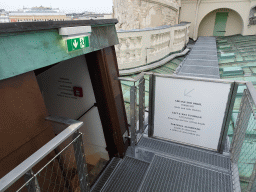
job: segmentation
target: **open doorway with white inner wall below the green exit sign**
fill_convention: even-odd
[[[110,157],[87,66],[84,55],[74,57],[37,73],[37,81],[50,115],[84,123],[79,131],[83,134],[89,183],[93,184]],[[52,126],[56,135],[66,128],[61,124]],[[61,151],[70,139],[58,150]],[[63,158],[70,158],[62,166],[71,174],[75,159],[70,154],[73,154],[72,149],[63,152]]]

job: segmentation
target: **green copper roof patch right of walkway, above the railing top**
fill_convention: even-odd
[[[221,78],[256,84],[256,36],[217,37],[217,47]]]

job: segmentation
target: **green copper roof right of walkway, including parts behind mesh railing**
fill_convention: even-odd
[[[218,37],[217,47],[220,76],[222,79],[251,81],[256,85],[256,36],[235,35]],[[246,86],[244,85],[238,87],[228,130],[230,141],[233,138],[233,130],[236,125],[241,98],[245,88]],[[252,165],[256,159],[256,154],[251,152],[256,150],[255,121],[253,114],[251,114],[240,154],[240,159],[243,162],[238,164],[239,176],[244,180],[244,182],[240,182],[242,190],[248,185],[248,178],[252,174]]]

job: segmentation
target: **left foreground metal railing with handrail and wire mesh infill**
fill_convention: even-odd
[[[1,192],[90,191],[79,132],[83,122],[51,116],[46,120],[69,126],[1,178]]]

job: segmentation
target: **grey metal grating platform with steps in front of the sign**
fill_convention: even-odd
[[[124,159],[112,159],[91,191],[230,192],[230,157],[143,137],[135,154],[129,147]]]

